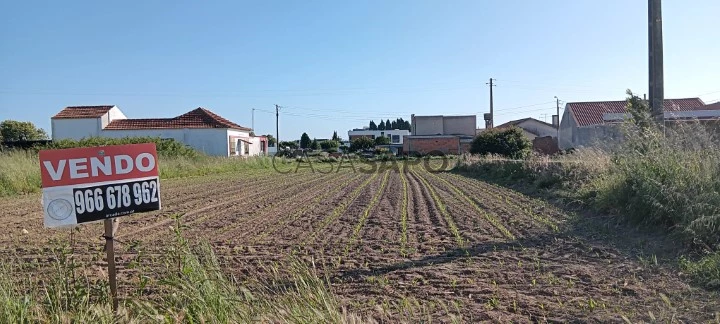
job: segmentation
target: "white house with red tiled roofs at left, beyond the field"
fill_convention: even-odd
[[[117,106],[66,107],[51,118],[52,139],[150,136],[174,139],[214,156],[264,155],[267,138],[251,129],[197,108],[173,118],[130,119]]]

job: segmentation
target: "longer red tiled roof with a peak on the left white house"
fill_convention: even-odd
[[[105,129],[168,129],[168,128],[232,128],[251,130],[218,116],[205,108],[197,108],[174,118],[116,119]]]

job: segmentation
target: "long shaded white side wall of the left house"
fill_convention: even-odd
[[[102,131],[101,136],[111,138],[138,136],[172,138],[207,155],[228,156],[230,152],[227,129],[225,128],[106,129]]]

